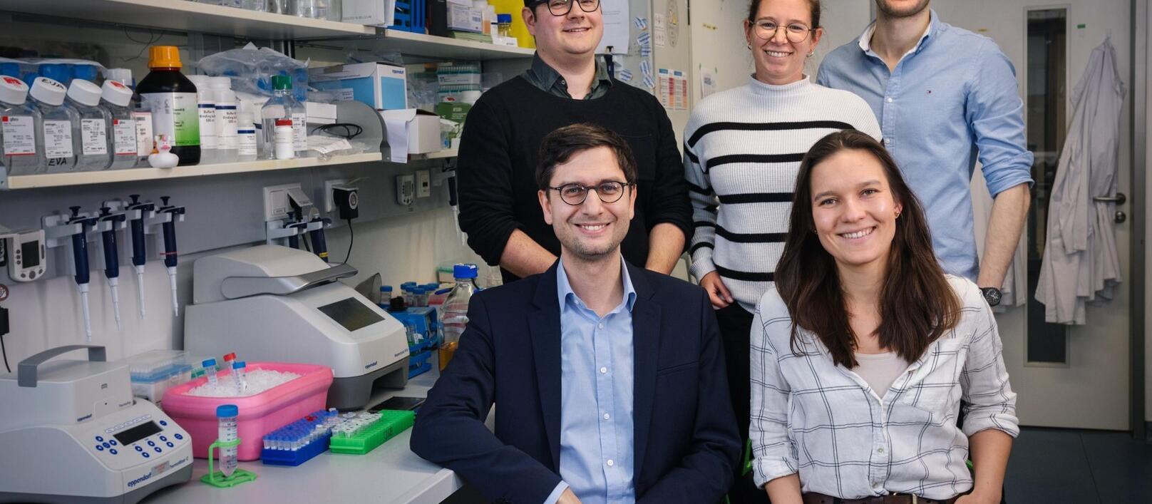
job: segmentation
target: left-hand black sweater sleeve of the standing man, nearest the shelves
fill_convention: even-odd
[[[502,115],[480,98],[468,113],[456,165],[460,229],[468,245],[492,266],[500,264],[516,220],[511,185],[510,138]]]

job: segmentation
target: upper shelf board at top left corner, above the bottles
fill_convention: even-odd
[[[191,0],[0,0],[0,10],[249,39],[376,35],[363,24],[258,13]]]

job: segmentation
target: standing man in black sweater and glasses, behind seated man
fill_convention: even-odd
[[[560,242],[536,196],[538,150],[553,130],[591,122],[623,137],[636,155],[638,199],[621,246],[624,259],[670,273],[691,238],[692,209],[664,107],[597,62],[599,0],[524,0],[522,15],[536,37],[532,68],[484,93],[461,138],[460,228],[469,246],[499,264],[505,282],[556,261]]]

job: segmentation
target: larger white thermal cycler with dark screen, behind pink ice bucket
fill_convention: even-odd
[[[388,312],[338,282],[356,273],[279,245],[197,259],[184,350],[328,366],[335,380],[327,405],[363,407],[373,385],[408,383],[408,336]]]

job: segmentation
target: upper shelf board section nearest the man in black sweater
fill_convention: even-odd
[[[532,58],[536,49],[507,47],[476,40],[412,33],[403,30],[384,30],[384,35],[372,37],[334,37],[325,41],[308,43],[327,49],[357,48],[363,51],[397,51],[406,58],[418,56],[433,60],[513,60]]]

